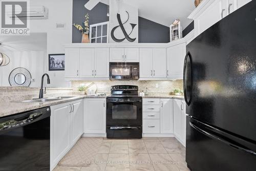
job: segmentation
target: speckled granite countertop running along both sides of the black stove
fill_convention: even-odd
[[[47,106],[66,103],[74,100],[79,100],[83,98],[106,98],[106,96],[88,96],[88,95],[77,95],[73,98],[61,99],[49,102],[2,102],[0,103],[0,117],[5,117],[9,115],[14,115],[17,113],[22,113],[26,111],[36,110],[39,108],[45,108]],[[174,96],[174,95],[148,95],[142,98],[175,98],[184,100],[184,96]]]

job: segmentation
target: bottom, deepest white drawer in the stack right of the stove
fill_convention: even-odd
[[[160,133],[160,119],[143,119],[143,133]]]

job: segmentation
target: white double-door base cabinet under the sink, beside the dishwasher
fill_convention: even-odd
[[[51,106],[51,170],[69,152],[83,134],[83,100]]]

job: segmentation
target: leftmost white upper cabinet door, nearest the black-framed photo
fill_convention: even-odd
[[[78,77],[79,75],[79,48],[65,49],[65,77]]]

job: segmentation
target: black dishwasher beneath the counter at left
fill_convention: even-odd
[[[0,118],[0,170],[50,170],[50,107]]]

